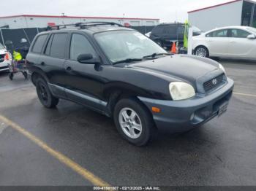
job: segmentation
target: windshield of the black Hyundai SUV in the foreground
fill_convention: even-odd
[[[113,63],[129,58],[142,59],[154,53],[167,53],[158,44],[137,31],[108,31],[95,34],[95,39]]]

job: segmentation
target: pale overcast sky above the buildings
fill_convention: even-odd
[[[1,4],[0,16],[64,13],[67,16],[146,17],[159,18],[160,22],[184,22],[190,10],[227,1],[231,0],[8,0]]]

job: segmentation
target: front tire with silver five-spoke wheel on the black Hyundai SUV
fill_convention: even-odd
[[[143,104],[132,98],[118,101],[113,112],[118,133],[131,144],[144,146],[154,133],[151,114]]]

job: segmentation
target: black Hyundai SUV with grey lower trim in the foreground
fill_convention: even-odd
[[[121,136],[138,146],[157,129],[183,132],[222,114],[233,90],[216,61],[170,55],[115,23],[42,32],[26,59],[43,106],[62,98],[113,117]]]

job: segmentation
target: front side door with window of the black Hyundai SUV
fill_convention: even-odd
[[[64,63],[66,94],[72,101],[92,109],[103,110],[105,104],[100,101],[103,88],[100,66],[77,61],[78,55],[86,53],[93,55],[94,58],[98,56],[85,34],[72,33],[69,58]]]

